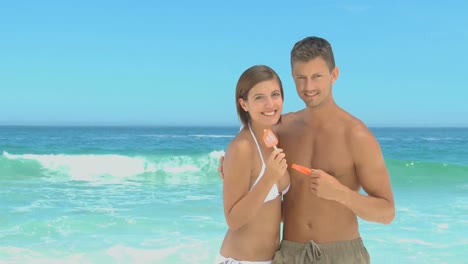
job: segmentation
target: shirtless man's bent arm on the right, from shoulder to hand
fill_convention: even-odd
[[[368,195],[351,190],[322,170],[312,170],[310,189],[321,198],[345,205],[364,220],[389,224],[395,217],[395,203],[380,146],[367,128],[352,133],[356,175]]]

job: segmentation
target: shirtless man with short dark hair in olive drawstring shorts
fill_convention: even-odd
[[[370,263],[357,216],[389,224],[395,205],[380,146],[359,119],[340,108],[328,41],[307,37],[291,51],[292,77],[305,108],[275,126],[291,188],[283,202],[283,240],[273,263]],[[360,194],[363,188],[367,195]]]

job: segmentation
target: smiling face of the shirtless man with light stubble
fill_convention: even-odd
[[[330,72],[325,60],[318,57],[308,62],[294,62],[292,77],[302,101],[308,107],[317,107],[332,100],[331,88],[338,78],[338,68]]]

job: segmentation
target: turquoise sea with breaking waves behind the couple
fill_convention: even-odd
[[[211,263],[237,131],[0,127],[0,262]],[[468,129],[373,131],[397,209],[360,222],[373,263],[468,263]]]

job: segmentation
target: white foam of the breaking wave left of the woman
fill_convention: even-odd
[[[10,154],[3,156],[10,160],[31,160],[45,169],[44,175],[57,180],[57,175],[67,179],[99,183],[115,183],[144,173],[164,172],[177,175],[172,181],[180,183],[185,178],[196,179],[194,174],[217,173],[219,158],[224,151],[216,150],[206,156],[124,156],[106,155],[70,155],[70,154]],[[203,173],[202,173],[203,171]],[[55,178],[54,178],[55,177]]]

